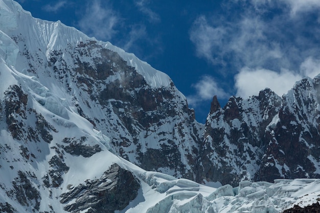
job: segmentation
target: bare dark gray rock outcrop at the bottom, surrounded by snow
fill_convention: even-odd
[[[131,172],[112,164],[103,176],[95,180],[86,180],[70,192],[61,195],[64,210],[79,212],[90,208],[87,212],[113,213],[124,209],[138,195],[139,181]],[[72,204],[69,201],[76,199]]]

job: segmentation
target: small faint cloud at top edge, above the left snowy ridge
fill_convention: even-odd
[[[110,4],[104,2],[104,5]],[[81,31],[90,36],[100,40],[110,40],[117,33],[115,28],[119,22],[120,16],[115,11],[103,7],[100,0],[94,0],[87,5],[78,26]]]

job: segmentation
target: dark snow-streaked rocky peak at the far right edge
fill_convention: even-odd
[[[320,77],[303,79],[282,97],[266,129],[257,180],[320,178]]]

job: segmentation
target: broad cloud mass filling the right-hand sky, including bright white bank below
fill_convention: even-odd
[[[198,57],[234,76],[238,95],[265,87],[282,95],[320,72],[320,1],[234,0],[224,6],[230,15],[200,15],[190,40]]]

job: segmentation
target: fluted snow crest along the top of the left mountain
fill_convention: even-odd
[[[127,64],[134,67],[140,73],[147,83],[155,88],[170,86],[172,80],[165,73],[154,69],[147,62],[141,61],[133,53],[126,53],[121,48],[112,45],[110,42],[98,41],[96,38],[90,38],[74,27],[65,26],[60,21],[52,22],[33,18],[30,12],[12,0],[1,0],[0,10],[0,28],[7,34],[18,34],[19,31],[28,32],[30,42],[41,42],[42,50],[47,53],[53,50],[60,50],[68,43],[79,43],[81,41],[97,41],[101,46],[111,51],[117,52]],[[4,12],[5,11],[5,12]],[[38,32],[42,32],[39,38]],[[32,45],[30,46],[39,46]]]

